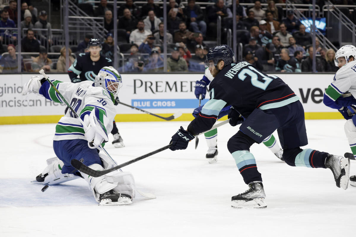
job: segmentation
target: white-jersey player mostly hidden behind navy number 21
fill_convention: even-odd
[[[214,77],[211,75],[209,68],[205,69],[204,76],[200,81],[195,82],[195,91],[194,94],[199,99],[201,96],[202,99],[205,98],[206,94],[206,87],[209,85],[210,81],[212,81]],[[199,112],[201,111],[200,106],[193,111],[193,116],[197,117]],[[224,117],[225,115],[229,114],[231,106],[224,107],[218,116],[218,119]],[[208,151],[206,152],[205,158],[208,159],[209,163],[215,163],[218,161],[218,129],[211,130],[207,133],[204,133],[206,144],[208,145]],[[279,147],[276,138],[271,134],[265,140],[262,141],[269,150],[271,150],[274,155],[276,155],[279,159],[283,161],[282,155],[283,150]]]

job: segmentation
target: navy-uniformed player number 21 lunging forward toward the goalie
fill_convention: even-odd
[[[199,115],[188,125],[181,126],[172,136],[171,150],[186,149],[194,134],[209,130],[219,112],[231,105],[230,125],[241,124],[239,131],[227,142],[227,149],[248,184],[244,193],[232,196],[235,208],[265,208],[265,192],[252,144],[261,143],[277,130],[283,149],[283,159],[290,166],[330,168],[337,187],[347,189],[350,160],[312,149],[301,149],[308,144],[304,109],[292,89],[277,76],[268,76],[250,63],[234,63],[234,52],[228,45],[219,45],[206,55],[207,66],[214,80],[210,82],[210,100]],[[241,117],[246,118],[245,120]]]

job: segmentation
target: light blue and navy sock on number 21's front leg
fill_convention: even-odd
[[[261,173],[257,170],[255,157],[248,150],[235,151],[231,153],[236,162],[237,168],[239,168],[244,182],[249,184],[253,181],[261,181]]]

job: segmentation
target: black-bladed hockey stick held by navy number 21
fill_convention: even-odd
[[[213,126],[210,130],[208,130],[208,131],[211,131],[211,130],[213,130],[213,129],[215,129],[215,128],[218,128],[218,127],[220,127],[220,126],[222,126],[222,125],[224,125],[224,124],[226,124],[226,123],[229,123],[229,120],[230,120],[230,119],[227,119],[227,120],[225,120],[224,122],[221,122],[221,123],[219,123],[219,124],[214,125],[214,126]],[[205,131],[205,132],[200,133],[200,134],[195,135],[195,136],[199,136],[199,135],[204,134],[204,133],[206,133],[206,132],[208,132],[208,131]],[[83,173],[85,173],[85,174],[88,174],[89,176],[92,176],[92,177],[99,177],[99,176],[103,176],[103,175],[105,175],[105,174],[108,174],[108,173],[110,173],[111,171],[114,171],[114,170],[116,170],[116,169],[120,169],[120,168],[125,167],[125,166],[127,166],[127,165],[130,165],[130,164],[132,164],[132,163],[135,163],[135,162],[137,162],[137,161],[140,161],[140,160],[142,160],[142,159],[144,159],[144,158],[147,158],[147,157],[149,157],[149,156],[155,155],[155,154],[157,154],[157,153],[159,153],[159,152],[161,152],[161,151],[167,150],[169,147],[171,147],[171,145],[172,145],[172,144],[169,144],[169,145],[167,145],[167,146],[163,146],[163,147],[161,147],[161,148],[159,148],[159,149],[157,149],[157,150],[155,150],[155,151],[149,152],[149,153],[147,153],[147,154],[145,154],[145,155],[143,155],[143,156],[137,157],[137,158],[135,158],[135,159],[133,159],[133,160],[127,161],[127,162],[125,162],[125,163],[122,163],[121,165],[112,167],[112,168],[110,168],[110,169],[105,169],[105,170],[102,170],[102,171],[96,171],[96,170],[94,170],[94,169],[91,169],[91,168],[89,168],[88,166],[84,165],[82,162],[80,162],[80,161],[78,161],[78,160],[75,160],[75,159],[71,160],[71,161],[70,161],[70,164],[71,164],[74,168],[78,169],[80,172],[83,172]]]

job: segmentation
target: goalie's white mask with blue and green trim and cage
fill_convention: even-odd
[[[95,77],[95,86],[105,88],[108,92],[117,97],[119,89],[122,86],[122,78],[120,73],[112,66],[104,67],[100,69],[98,76]]]

